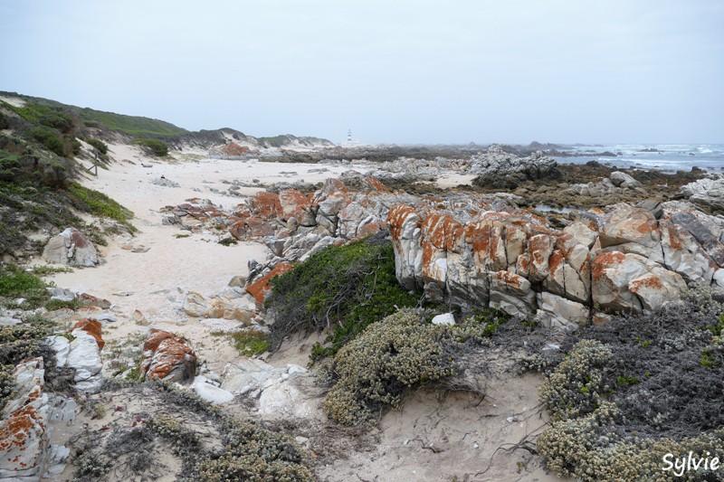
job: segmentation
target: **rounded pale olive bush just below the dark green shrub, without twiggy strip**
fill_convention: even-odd
[[[331,366],[337,380],[323,410],[344,425],[373,421],[389,405],[399,408],[405,388],[450,376],[455,367],[445,354],[450,328],[427,323],[413,309],[402,309],[341,348]]]

